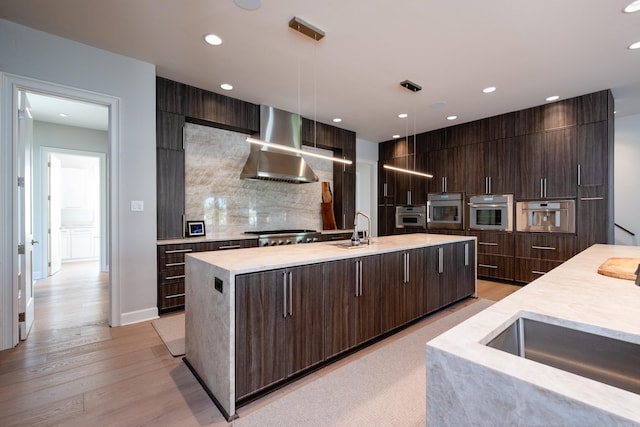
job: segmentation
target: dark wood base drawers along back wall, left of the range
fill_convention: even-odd
[[[185,255],[193,252],[258,246],[257,240],[173,243],[158,245],[158,312],[184,309]]]

